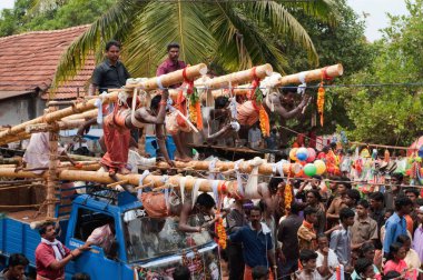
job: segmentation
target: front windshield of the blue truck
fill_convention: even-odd
[[[134,211],[134,210],[131,210]],[[125,221],[128,261],[140,261],[168,256],[181,250],[199,247],[213,239],[207,231],[186,233],[178,230],[178,217],[137,217]],[[189,224],[198,227],[195,216]]]

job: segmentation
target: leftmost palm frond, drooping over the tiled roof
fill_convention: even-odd
[[[125,38],[135,17],[132,11],[140,9],[137,0],[120,0],[79,36],[62,54],[52,88],[75,77],[89,56],[95,56],[97,61],[100,60],[106,41]]]

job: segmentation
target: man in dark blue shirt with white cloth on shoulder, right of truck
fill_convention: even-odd
[[[276,261],[273,250],[272,231],[262,220],[262,210],[254,207],[249,212],[249,223],[229,236],[233,242],[243,243],[245,262],[244,279],[253,279],[252,270],[257,266],[272,267],[276,279]],[[273,279],[270,277],[270,279]]]

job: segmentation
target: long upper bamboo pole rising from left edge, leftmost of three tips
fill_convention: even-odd
[[[195,79],[196,77],[199,77],[200,74],[203,74],[204,71],[207,72],[207,67],[204,63],[193,66],[193,67],[188,67],[188,68],[186,68],[186,77],[188,79]],[[127,86],[127,88],[134,89],[136,87],[140,87],[140,88],[144,88],[146,90],[153,90],[153,89],[159,88],[158,81],[161,82],[163,87],[169,87],[171,84],[179,83],[179,82],[184,81],[183,70],[178,70],[178,71],[175,71],[175,72],[171,72],[168,74],[164,74],[164,76],[160,76],[159,78],[158,77],[150,78],[150,79],[146,80],[145,82],[141,82],[138,84],[129,84],[129,86]],[[118,91],[114,91],[114,92],[110,92],[108,94],[101,96],[102,102],[104,103],[110,103],[110,102],[116,101],[118,93],[119,93]],[[81,102],[81,103],[78,103],[76,106],[71,106],[71,107],[68,107],[68,108],[65,108],[65,109],[61,109],[58,111],[47,113],[42,117],[38,117],[38,118],[32,119],[30,121],[26,121],[26,122],[22,122],[18,126],[14,126],[14,127],[6,130],[6,131],[1,131],[0,132],[0,143],[4,143],[3,139],[7,137],[16,136],[18,133],[23,132],[27,126],[37,124],[37,123],[45,123],[45,122],[49,123],[49,122],[58,121],[62,118],[69,117],[69,116],[75,114],[75,113],[81,113],[81,112],[85,112],[88,110],[92,110],[92,109],[96,109],[95,103],[96,103],[96,99],[90,99],[87,102]]]

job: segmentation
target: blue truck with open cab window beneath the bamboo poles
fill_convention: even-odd
[[[96,228],[110,220],[116,229],[116,256],[109,257],[102,248],[92,246],[66,266],[66,279],[77,272],[106,280],[171,279],[179,264],[190,269],[191,279],[220,279],[218,247],[208,232],[180,232],[177,217],[150,218],[142,203],[126,191],[78,194],[71,203],[58,206],[56,212],[58,239],[71,250],[82,246]],[[0,220],[0,266],[6,266],[11,253],[21,252],[30,260],[28,274],[33,277],[40,234],[31,227],[32,217],[33,211],[18,211]],[[196,226],[197,219],[190,220]]]

